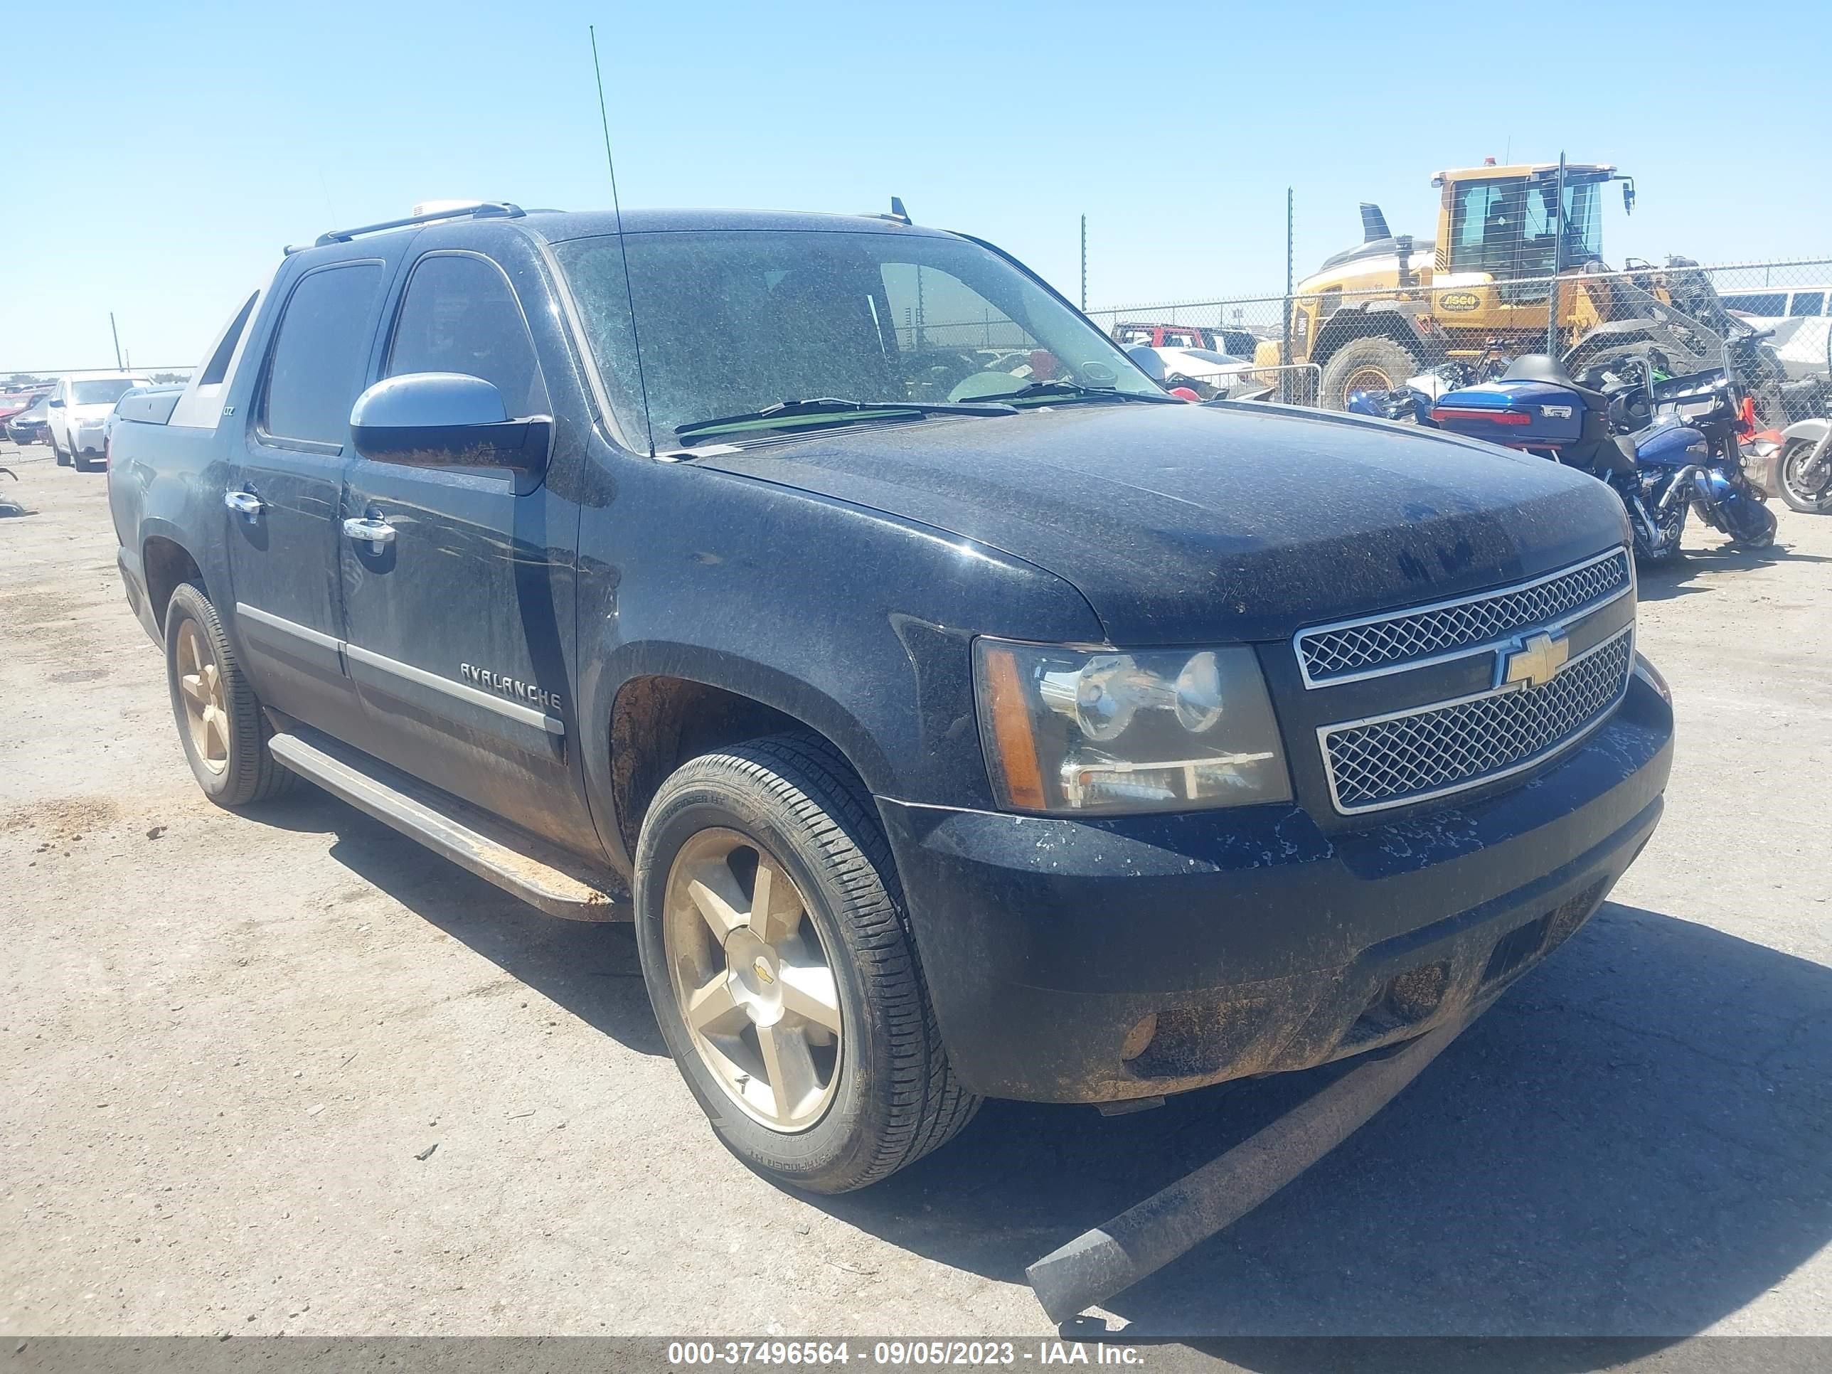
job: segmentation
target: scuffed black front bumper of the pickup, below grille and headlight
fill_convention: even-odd
[[[1290,806],[879,812],[962,1083],[1121,1101],[1310,1068],[1482,1006],[1601,905],[1671,762],[1673,711],[1636,676],[1521,786],[1348,832]]]

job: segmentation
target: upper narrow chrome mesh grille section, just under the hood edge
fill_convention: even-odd
[[[1299,630],[1297,667],[1304,687],[1405,672],[1488,652],[1526,628],[1554,628],[1632,590],[1634,562],[1616,548],[1495,592]]]

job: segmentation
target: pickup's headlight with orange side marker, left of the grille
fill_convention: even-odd
[[[980,740],[1017,812],[1193,812],[1292,801],[1251,649],[1055,649],[976,639]]]

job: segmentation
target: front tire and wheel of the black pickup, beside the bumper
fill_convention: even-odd
[[[636,943],[714,1132],[782,1183],[876,1183],[978,1108],[942,1048],[870,795],[824,740],[753,740],[661,784],[636,846]]]

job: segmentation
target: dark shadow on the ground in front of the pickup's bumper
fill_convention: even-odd
[[[1828,1063],[1832,969],[1607,905],[1347,1145],[1107,1310],[1132,1336],[1698,1332],[1832,1238]],[[989,1103],[819,1205],[1022,1282],[1317,1083],[1110,1119]]]

